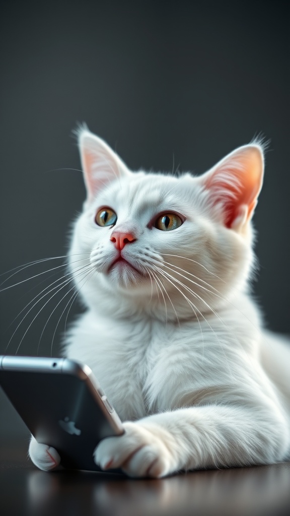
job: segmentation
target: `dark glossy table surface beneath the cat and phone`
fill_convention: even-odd
[[[196,471],[169,478],[60,471],[27,459],[26,443],[0,446],[1,516],[280,516],[290,514],[290,463]]]

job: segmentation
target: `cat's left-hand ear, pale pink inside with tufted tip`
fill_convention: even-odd
[[[80,128],[77,136],[88,200],[91,201],[99,189],[128,172],[119,156],[87,127]]]

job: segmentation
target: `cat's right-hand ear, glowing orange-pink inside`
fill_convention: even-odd
[[[239,147],[201,176],[213,206],[223,212],[227,228],[239,231],[251,219],[263,183],[260,143]]]

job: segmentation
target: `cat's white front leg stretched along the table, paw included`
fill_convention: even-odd
[[[95,462],[135,477],[181,470],[269,464],[289,450],[283,414],[268,407],[204,406],[125,422],[125,433],[101,441]]]

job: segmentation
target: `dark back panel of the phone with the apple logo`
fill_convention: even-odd
[[[57,449],[61,465],[100,471],[93,451],[116,431],[85,379],[66,372],[0,369],[0,384],[36,440]]]

